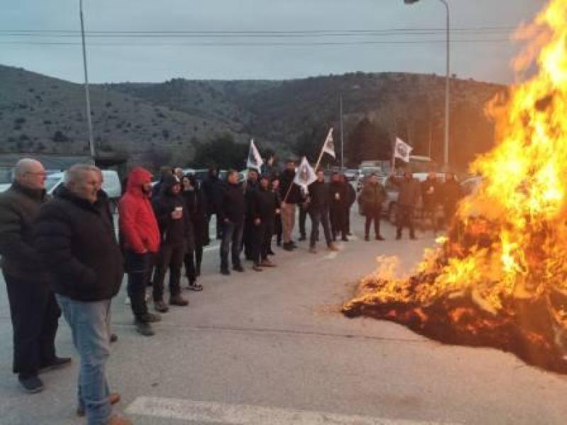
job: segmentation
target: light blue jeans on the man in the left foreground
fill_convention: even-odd
[[[81,302],[56,295],[81,358],[77,397],[89,425],[103,425],[111,416],[104,372],[110,352],[111,300]]]

